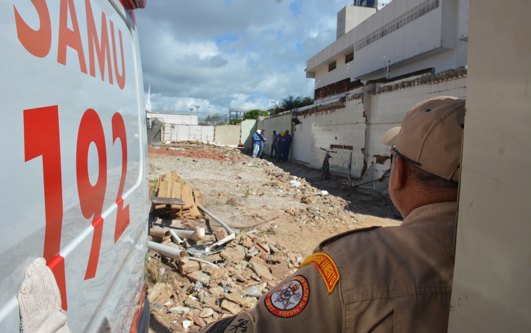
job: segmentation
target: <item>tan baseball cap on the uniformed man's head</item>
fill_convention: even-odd
[[[419,168],[444,179],[459,181],[465,99],[439,96],[413,106],[402,126],[383,135],[384,145],[419,163]]]

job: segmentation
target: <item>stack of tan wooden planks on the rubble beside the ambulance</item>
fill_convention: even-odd
[[[183,204],[175,204],[170,199],[181,199]],[[192,189],[190,184],[179,177],[176,171],[161,174],[155,187],[153,213],[176,218],[204,218],[197,205],[203,204],[203,196],[198,188]]]

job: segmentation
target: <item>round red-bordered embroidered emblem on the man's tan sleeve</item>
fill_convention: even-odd
[[[281,318],[301,313],[310,299],[310,285],[302,275],[296,275],[270,292],[264,299],[265,307]]]

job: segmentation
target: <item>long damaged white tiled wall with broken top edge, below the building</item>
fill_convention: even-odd
[[[448,71],[445,71],[448,72]],[[431,79],[436,77],[436,79]],[[386,177],[390,169],[389,147],[382,143],[383,134],[400,126],[407,111],[416,103],[436,96],[466,97],[466,69],[451,70],[451,74],[418,74],[395,81],[366,81],[335,96],[315,101],[303,111],[288,111],[258,122],[258,129],[267,131],[290,130],[293,136],[290,160],[321,168],[326,152],[332,154],[330,170],[349,174],[360,182]],[[328,103],[328,104],[327,104]],[[292,126],[292,118],[302,122]],[[270,154],[270,146],[264,154]],[[349,168],[350,164],[350,168]],[[385,179],[384,179],[385,180]],[[385,190],[387,181],[367,186]]]

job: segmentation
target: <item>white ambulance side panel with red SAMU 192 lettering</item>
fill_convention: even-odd
[[[0,0],[3,333],[19,332],[16,296],[37,257],[54,272],[72,332],[147,331],[147,141],[134,16],[144,6]]]

